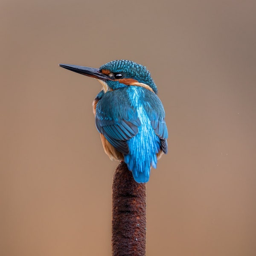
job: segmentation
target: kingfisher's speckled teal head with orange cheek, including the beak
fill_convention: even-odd
[[[157,86],[147,68],[133,61],[111,61],[103,64],[99,69],[67,64],[59,64],[59,66],[97,79],[105,93],[131,85],[141,86],[157,93]]]

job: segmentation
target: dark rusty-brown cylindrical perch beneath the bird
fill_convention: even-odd
[[[146,255],[146,184],[137,183],[124,162],[112,185],[112,255]]]

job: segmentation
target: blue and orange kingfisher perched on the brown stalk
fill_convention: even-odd
[[[111,160],[124,161],[137,183],[148,182],[151,167],[156,169],[168,150],[165,111],[148,69],[129,60],[99,68],[59,66],[100,82],[93,113],[104,151]]]

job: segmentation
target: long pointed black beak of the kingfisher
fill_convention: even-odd
[[[77,65],[67,65],[67,64],[59,64],[60,67],[64,67],[67,70],[74,71],[84,76],[90,76],[100,80],[110,80],[110,77],[102,74],[98,68],[93,67],[83,67]]]

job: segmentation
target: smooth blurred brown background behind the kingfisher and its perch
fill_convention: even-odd
[[[0,3],[0,255],[111,255],[91,103],[58,63],[144,64],[169,154],[147,185],[147,256],[256,255],[255,1]]]

